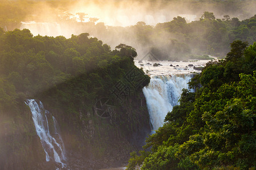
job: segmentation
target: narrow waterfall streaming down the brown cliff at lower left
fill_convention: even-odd
[[[28,99],[26,104],[30,107],[36,133],[40,138],[44,152],[46,152],[46,161],[52,160],[60,163],[63,168],[66,167],[66,164],[63,163],[65,160],[64,144],[55,117],[44,109],[41,101]],[[53,123],[49,124],[49,122]],[[49,128],[49,125],[53,125],[54,128]]]

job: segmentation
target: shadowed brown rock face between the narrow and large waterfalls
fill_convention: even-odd
[[[143,93],[115,105],[108,119],[81,110],[77,128],[71,125],[62,129],[67,169],[122,167],[127,164],[130,152],[144,145],[151,129]]]

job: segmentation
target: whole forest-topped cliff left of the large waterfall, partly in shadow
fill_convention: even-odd
[[[127,160],[125,153],[129,155],[136,147],[131,146],[132,135],[150,130],[146,104],[142,104],[142,87],[150,78],[134,66],[136,50],[125,44],[110,50],[88,36],[33,37],[28,29],[0,29],[0,166],[4,169],[38,168],[45,162],[42,146],[35,145],[38,139],[26,99],[41,100],[54,114],[67,149],[76,155],[81,152],[84,164],[106,166],[104,161],[102,165],[88,160],[103,159],[113,148],[118,149],[115,154],[123,155],[107,164],[120,164]],[[129,75],[131,70],[134,78]],[[129,91],[114,91],[118,83]],[[102,97],[115,107],[108,119],[93,110]]]

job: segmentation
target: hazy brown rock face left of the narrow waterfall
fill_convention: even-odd
[[[40,169],[46,162],[30,109],[24,104],[20,110],[22,116],[14,119],[0,114],[0,169]]]

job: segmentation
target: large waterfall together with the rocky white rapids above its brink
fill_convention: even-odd
[[[217,59],[217,57],[213,57]],[[152,130],[157,130],[164,123],[164,118],[172,108],[179,104],[178,100],[183,88],[188,88],[188,82],[195,73],[201,71],[193,66],[204,67],[210,60],[183,61],[147,61],[134,60],[134,64],[143,69],[151,77],[150,84],[143,88],[147,109],[150,114]],[[154,63],[161,65],[154,67]],[[172,65],[172,66],[170,66]],[[193,65],[193,66],[189,66]],[[175,67],[174,67],[175,66]]]

